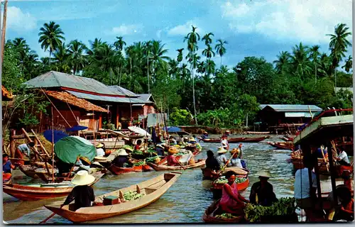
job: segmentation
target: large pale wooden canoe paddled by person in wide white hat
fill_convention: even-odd
[[[120,204],[107,205],[107,206],[90,206],[72,211],[72,207],[63,206],[62,209],[58,206],[45,206],[45,208],[53,211],[55,214],[66,218],[73,223],[82,223],[85,221],[94,221],[102,218],[109,218],[112,216],[119,216],[126,214],[137,209],[141,209],[144,206],[152,204],[154,201],[160,199],[163,194],[176,182],[180,177],[180,172],[171,172],[159,175],[153,179],[148,179],[145,182],[139,184],[133,184],[129,187],[119,189],[108,194],[96,197],[94,204],[102,204],[105,196],[118,196],[123,198],[125,192],[134,191],[144,194],[140,199],[133,201],[124,201]],[[120,196],[121,195],[121,196]]]

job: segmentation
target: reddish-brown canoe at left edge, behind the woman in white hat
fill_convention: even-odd
[[[93,174],[95,184],[104,174]],[[67,196],[72,192],[73,184],[4,184],[3,192],[23,201],[52,199]]]

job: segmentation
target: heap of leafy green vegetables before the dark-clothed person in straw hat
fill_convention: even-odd
[[[295,210],[295,198],[286,197],[279,199],[272,206],[247,204],[244,212],[250,222],[255,222],[260,221],[262,216],[290,216]]]

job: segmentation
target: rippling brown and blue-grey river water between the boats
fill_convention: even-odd
[[[261,143],[244,143],[243,155],[251,171],[249,175],[251,184],[241,194],[249,197],[251,185],[258,181],[255,175],[256,172],[258,170],[268,170],[272,175],[269,182],[273,184],[276,196],[278,198],[293,196],[293,165],[286,162],[290,158],[290,150],[273,150],[266,141],[280,141],[280,139],[274,136],[274,138],[263,140]],[[203,142],[201,145],[203,150],[201,154],[197,155],[197,159],[206,157],[207,149],[216,151],[219,146],[217,143]],[[231,149],[238,145],[239,143],[230,144]],[[230,157],[229,154],[227,154],[227,157]],[[96,195],[104,194],[161,174],[163,172],[153,171],[115,176],[111,172],[107,172],[107,175],[102,177],[97,184],[94,184],[94,192]],[[15,177],[15,182],[28,182],[30,180],[26,176],[18,178],[16,179]],[[31,180],[32,182],[34,181],[33,179]],[[185,170],[178,181],[155,203],[129,214],[89,223],[202,223],[204,209],[213,201],[212,192],[209,191],[211,186],[212,181],[202,180],[200,168]],[[4,194],[4,192],[3,198],[4,221],[7,223],[39,223],[52,214],[43,205],[62,204],[65,199],[20,201],[8,194]],[[47,223],[71,222],[55,215]]]

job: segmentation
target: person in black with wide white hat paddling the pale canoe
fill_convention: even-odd
[[[92,202],[95,200],[94,190],[92,187],[89,187],[95,181],[95,177],[89,175],[86,170],[80,170],[77,172],[75,177],[72,179],[72,184],[75,186],[72,189],[72,192],[65,199],[64,204],[60,206],[68,205],[73,200],[75,200],[75,210],[80,209],[82,207],[91,206]]]

